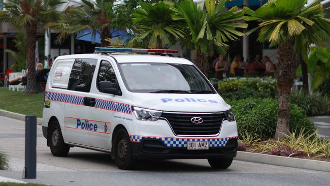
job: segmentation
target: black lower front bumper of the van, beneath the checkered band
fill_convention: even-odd
[[[131,138],[132,139],[132,138]],[[223,139],[223,138],[222,138]],[[221,142],[220,142],[221,143]],[[237,154],[237,137],[228,138],[225,144],[211,145],[208,150],[187,150],[186,145],[169,145],[163,139],[142,138],[131,141],[135,159],[229,159]],[[217,143],[219,144],[219,143]]]

